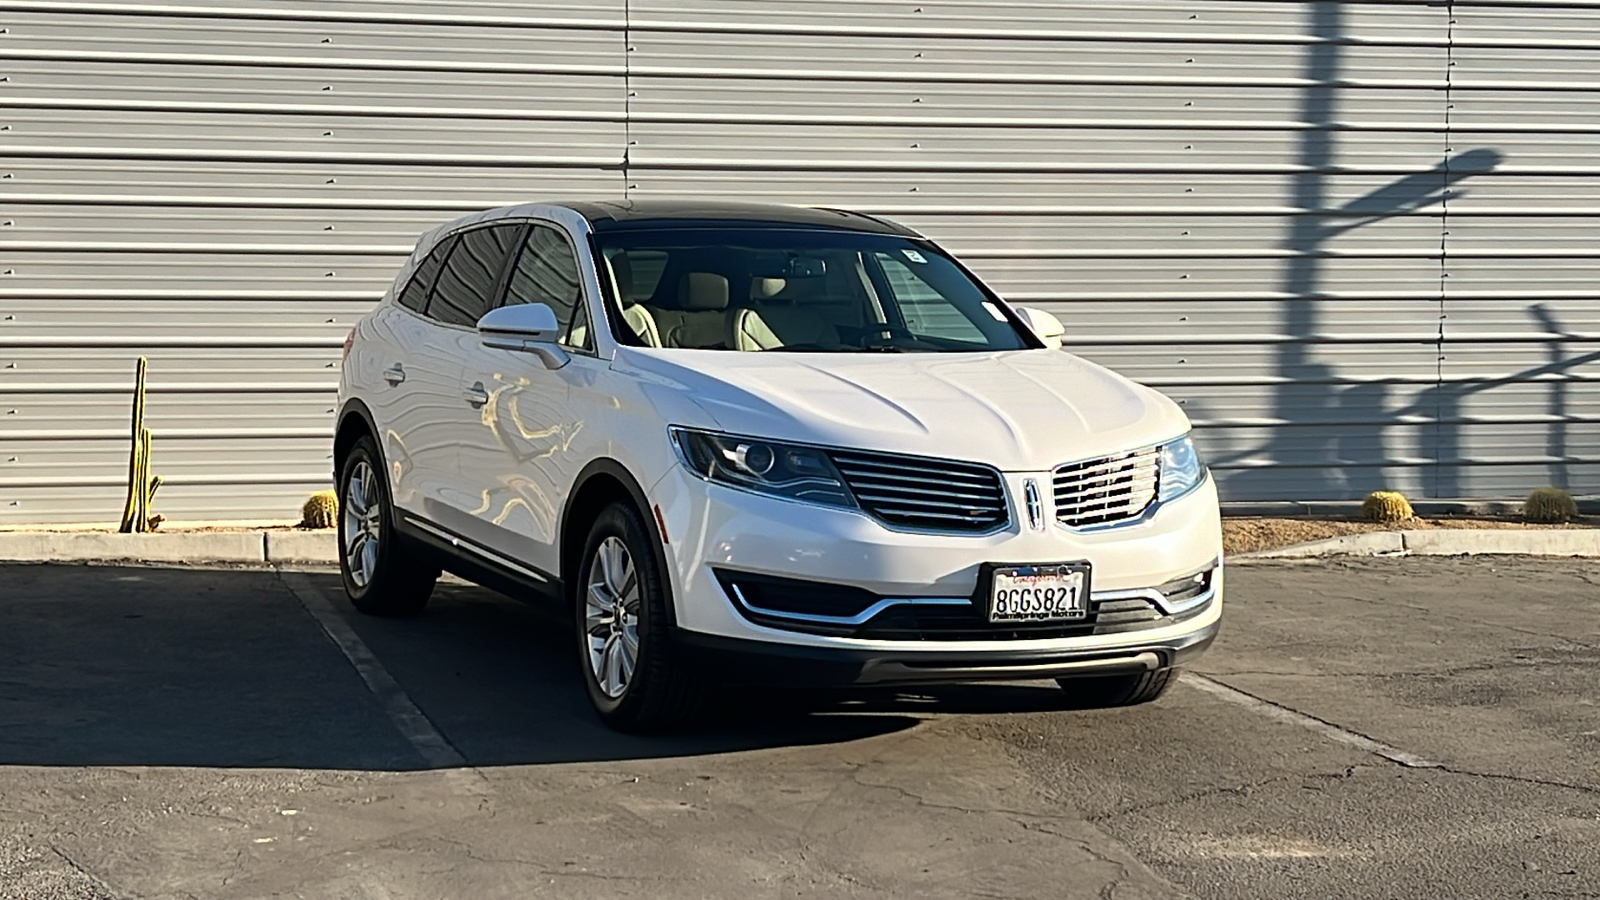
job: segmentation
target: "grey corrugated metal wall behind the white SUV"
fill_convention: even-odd
[[[1227,500],[1600,492],[1600,3],[0,0],[0,522],[291,517],[430,223],[850,205],[1179,397]]]

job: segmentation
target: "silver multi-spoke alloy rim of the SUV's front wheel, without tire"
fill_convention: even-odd
[[[586,585],[589,671],[600,690],[616,700],[627,690],[638,665],[638,572],[621,538],[600,541]]]

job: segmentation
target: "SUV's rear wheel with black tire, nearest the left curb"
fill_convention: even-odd
[[[339,466],[339,577],[368,615],[416,615],[438,581],[438,567],[402,543],[378,445],[365,436]]]

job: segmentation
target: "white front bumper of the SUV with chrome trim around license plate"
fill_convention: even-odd
[[[1029,477],[1050,484],[1050,472],[1005,474],[1013,511]],[[1013,514],[1006,528],[989,535],[894,532],[859,512],[707,484],[683,468],[667,472],[650,495],[666,525],[667,573],[680,641],[696,655],[730,655],[742,671],[770,668],[752,661],[755,657],[766,657],[781,669],[816,669],[827,676],[805,681],[840,684],[1139,671],[1176,665],[1198,653],[1221,618],[1222,540],[1210,479],[1194,493],[1125,527],[1074,532],[1048,519],[1043,530],[1030,530]],[[1149,591],[1213,565],[1218,569],[1203,609],[1149,629],[1080,629],[1058,636],[968,629],[960,639],[931,633],[878,639],[762,620],[749,610],[741,612],[717,578],[718,570],[733,570],[826,581],[880,597],[949,602],[973,597],[987,564],[1078,560],[1093,567],[1096,601]]]

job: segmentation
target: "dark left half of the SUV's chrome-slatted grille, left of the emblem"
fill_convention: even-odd
[[[992,532],[1010,519],[1000,472],[976,463],[830,452],[856,503],[891,528]]]

